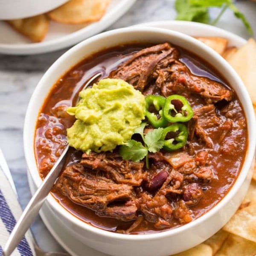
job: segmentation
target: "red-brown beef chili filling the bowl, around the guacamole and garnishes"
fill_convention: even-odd
[[[58,79],[41,107],[35,130],[35,157],[42,179],[65,148],[66,129],[75,121],[67,114],[67,107],[76,104],[83,85],[99,72],[99,79],[124,79],[145,96],[184,96],[194,111],[193,118],[186,122],[188,141],[175,152],[160,150],[150,154],[150,169],[145,168],[143,160],[122,160],[118,148],[112,153],[90,155],[70,148],[66,166],[52,189],[59,204],[95,227],[132,234],[178,227],[218,204],[235,183],[247,152],[244,111],[232,85],[221,74],[198,56],[169,43],[104,49]],[[139,166],[134,167],[136,164]],[[140,169],[136,186],[129,180],[124,185],[113,178],[116,173],[121,180],[126,179],[122,175],[129,170],[123,166]],[[75,175],[79,182],[85,180],[82,188],[73,179]],[[109,180],[120,186],[119,191],[126,191],[126,197],[99,205],[105,195],[95,190],[88,203],[86,184],[91,177],[99,184],[108,185]],[[157,177],[162,180],[160,186],[148,189]]]

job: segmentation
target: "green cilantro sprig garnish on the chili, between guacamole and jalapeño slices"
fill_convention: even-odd
[[[163,147],[163,128],[157,128],[143,134],[147,124],[142,122],[140,127],[135,129],[134,134],[140,134],[143,143],[136,140],[128,140],[124,145],[120,146],[120,155],[125,160],[138,162],[146,157],[146,167],[149,168],[148,152],[155,153]],[[144,144],[144,145],[143,145]]]

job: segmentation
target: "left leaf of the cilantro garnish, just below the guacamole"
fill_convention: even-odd
[[[138,162],[148,154],[148,149],[141,142],[128,140],[127,143],[120,146],[119,153],[125,160],[131,159],[134,162]]]

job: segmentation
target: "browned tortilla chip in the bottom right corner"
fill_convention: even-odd
[[[254,256],[256,243],[230,234],[215,256]]]

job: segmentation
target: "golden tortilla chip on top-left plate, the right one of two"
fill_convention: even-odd
[[[70,0],[47,15],[57,22],[79,24],[100,20],[110,0]]]

